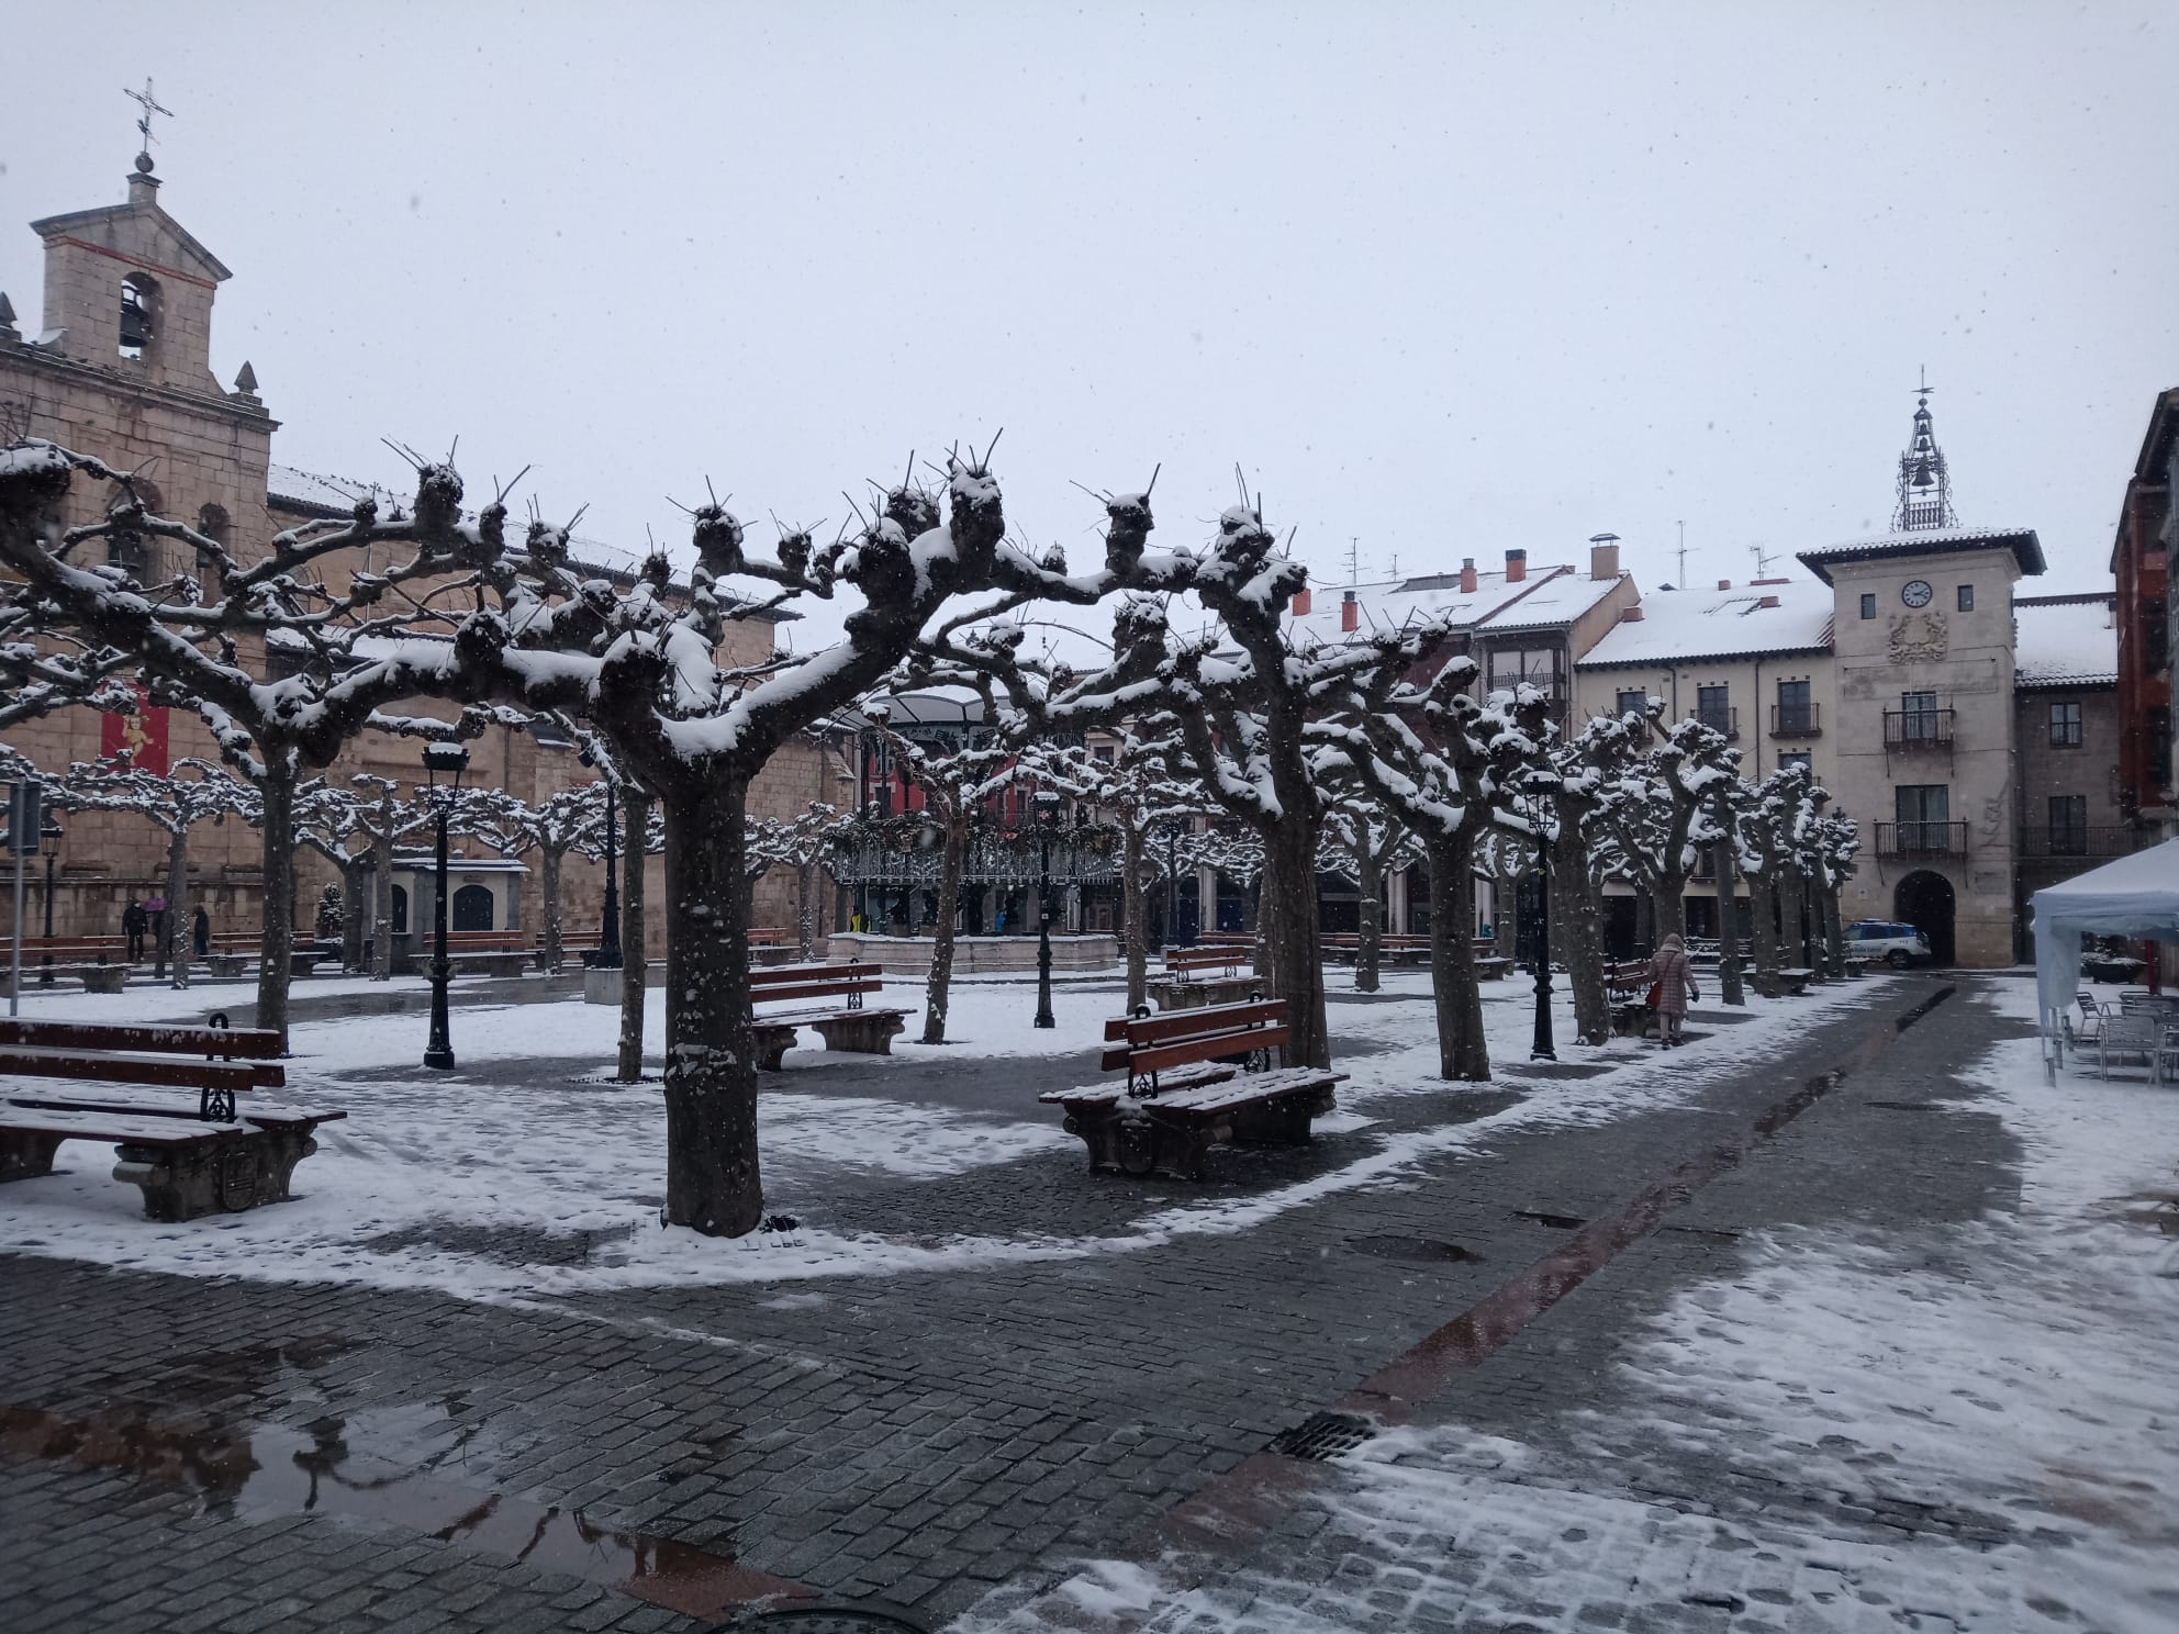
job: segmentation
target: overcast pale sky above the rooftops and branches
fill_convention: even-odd
[[[275,458],[460,436],[473,492],[534,464],[617,542],[706,475],[837,523],[1005,427],[1018,532],[1076,560],[1070,477],[1164,462],[1185,542],[1238,460],[1325,582],[1349,538],[1375,577],[1610,529],[1656,586],[1680,521],[1741,580],[1887,525],[1926,364],[1963,519],[2087,588],[2179,383],[2168,0],[78,0],[44,44],[0,224],[118,203],[155,76]]]

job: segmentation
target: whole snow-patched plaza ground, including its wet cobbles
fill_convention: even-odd
[[[2050,1087],[2031,983],[1924,1013],[1944,985],[1530,1068],[1495,983],[1501,1068],[1460,1087],[1425,974],[1331,972],[1338,1111],[1190,1185],[1083,1172],[1037,1105],[1096,1076],[1113,978],[1052,1033],[1031,983],[961,980],[952,1044],[789,1052],[795,1224],[713,1240],[658,1227],[610,1009],[464,985],[427,1074],[416,985],[309,983],[288,1098],[349,1118],[294,1203],[153,1224],[94,1146],[0,1198],[20,1625],[107,1625],[68,1584],[126,1514],[146,1558],[314,1538],[266,1625],[355,1590],[466,1627],[475,1584],[477,1627],[780,1593],[961,1630],[2168,1627],[2179,1098]],[[200,1440],[159,1440],[176,1392]],[[1268,1451],[1318,1412],[1368,1434]]]

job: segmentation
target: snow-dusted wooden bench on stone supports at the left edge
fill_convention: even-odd
[[[318,1150],[312,1131],[344,1111],[253,1107],[235,1094],[279,1089],[279,1033],[229,1026],[96,1026],[0,1022],[0,1181],[52,1172],[61,1142],[111,1142],[113,1179],[144,1192],[153,1220],[194,1220],[285,1203],[294,1166]],[[72,1078],[122,1089],[39,1089],[20,1078]],[[196,1089],[190,1107],[131,1089]]]

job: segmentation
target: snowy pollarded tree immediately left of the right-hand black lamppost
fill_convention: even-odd
[[[1427,654],[1425,654],[1427,656]],[[1473,658],[1447,658],[1429,682],[1408,664],[1358,678],[1307,730],[1325,773],[1351,773],[1414,830],[1429,865],[1429,985],[1438,1072],[1488,1078],[1475,987],[1475,845],[1545,765],[1549,699],[1527,682],[1477,704]]]

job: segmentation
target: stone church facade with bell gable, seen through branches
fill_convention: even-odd
[[[148,505],[166,516],[211,534],[242,560],[251,560],[283,527],[316,516],[346,514],[360,484],[314,477],[272,462],[270,418],[257,392],[255,370],[240,364],[233,388],[222,388],[211,366],[211,312],[218,285],[231,275],[159,203],[161,183],[148,161],[129,176],[126,203],[83,209],[33,222],[46,246],[44,322],[39,331],[0,318],[0,438],[37,436],[94,453],[113,466],[148,471],[139,481]],[[7,312],[0,305],[0,312]],[[96,521],[94,484],[78,481],[61,521]],[[397,495],[403,497],[405,495]],[[150,540],[139,577],[170,577],[194,564],[174,560],[176,547]],[[577,553],[593,553],[606,577],[632,580],[634,558],[577,540]],[[362,562],[327,562],[336,584]],[[384,566],[384,564],[379,564]],[[760,662],[774,649],[774,621],[750,619],[728,625],[728,660]],[[261,660],[261,654],[244,654]],[[418,699],[416,715],[449,715],[445,706]],[[9,732],[9,745],[39,769],[61,773],[74,760],[98,760],[129,745],[137,765],[163,767],[183,758],[218,760],[209,732],[187,710],[146,708],[137,717],[100,717],[61,710]],[[551,734],[495,728],[468,745],[464,786],[497,786],[538,802],[586,782],[571,745]],[[418,743],[366,732],[327,769],[344,782],[368,771],[401,784],[423,782]],[[782,749],[752,786],[754,815],[791,817],[811,800],[852,800],[841,756],[815,743]],[[142,817],[126,813],[63,815],[52,891],[57,935],[111,932],[131,898],[163,889],[166,837]],[[455,850],[484,856],[477,841]],[[296,913],[301,930],[312,930],[312,909],[320,889],[338,874],[316,852],[299,852]],[[665,893],[660,858],[647,865],[649,900]],[[486,869],[479,869],[479,876]],[[501,874],[501,869],[490,869]],[[242,932],[261,915],[261,850],[255,830],[238,821],[203,826],[192,834],[192,900],[203,902],[214,928]],[[516,926],[543,924],[538,880],[523,869],[514,885],[499,882],[495,909]],[[26,930],[44,928],[41,880],[33,891]],[[569,856],[562,876],[562,919],[569,928],[597,924],[604,869]],[[758,882],[756,924],[793,922],[793,880],[782,874]],[[9,924],[0,893],[0,928]],[[662,915],[649,917],[649,952],[662,956]]]

